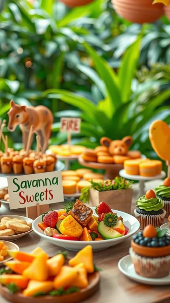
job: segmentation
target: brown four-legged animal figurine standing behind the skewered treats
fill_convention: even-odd
[[[33,125],[34,132],[38,133],[40,136],[40,143],[42,147],[42,152],[44,153],[48,140],[51,135],[51,126],[53,123],[52,112],[43,105],[36,107],[24,106],[15,104],[13,100],[10,101],[11,109],[8,111],[8,130],[10,132],[15,131],[15,128],[19,125],[22,131],[22,141],[24,148],[26,149],[28,142],[28,135],[31,125]],[[30,146],[33,140],[33,135],[31,138]]]

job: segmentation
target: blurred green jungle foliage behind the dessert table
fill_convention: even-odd
[[[0,117],[9,101],[48,106],[51,144],[66,142],[60,117],[80,117],[72,143],[132,135],[132,148],[156,158],[148,129],[170,123],[170,21],[131,23],[110,0],[69,8],[57,0],[0,1]],[[21,148],[19,128],[9,146]]]

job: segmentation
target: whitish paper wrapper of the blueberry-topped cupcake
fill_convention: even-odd
[[[160,258],[149,258],[137,255],[132,248],[129,254],[138,275],[147,278],[162,278],[169,274],[170,255]]]

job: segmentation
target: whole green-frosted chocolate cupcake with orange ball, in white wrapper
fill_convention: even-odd
[[[145,195],[136,200],[136,209],[134,214],[140,222],[140,229],[144,229],[146,225],[160,227],[166,215],[163,209],[163,200],[155,195],[155,192],[150,189]]]

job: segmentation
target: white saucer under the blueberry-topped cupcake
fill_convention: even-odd
[[[129,279],[148,285],[169,285],[170,274],[163,278],[145,278],[136,274],[132,259],[130,255],[121,258],[118,262],[119,270]]]

